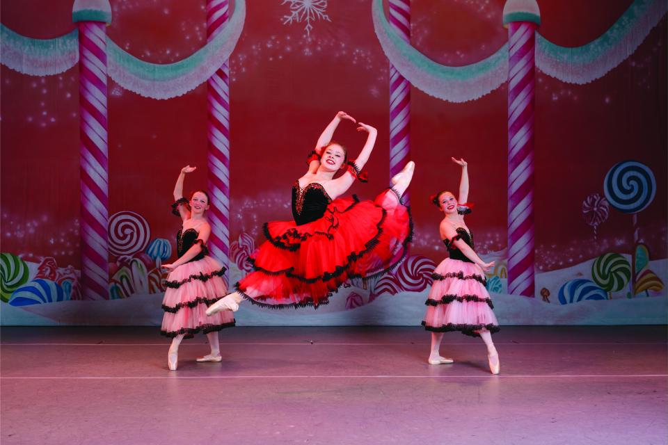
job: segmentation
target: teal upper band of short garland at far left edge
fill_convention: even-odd
[[[79,31],[77,29],[53,39],[33,39],[15,33],[7,26],[0,24],[0,40],[3,46],[14,47],[27,56],[35,58],[59,58],[72,51],[79,51]]]

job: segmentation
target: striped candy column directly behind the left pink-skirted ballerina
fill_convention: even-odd
[[[230,15],[228,0],[207,0],[207,40],[221,31]],[[209,178],[211,197],[209,252],[230,268],[230,67],[225,60],[208,81]],[[224,275],[228,280],[229,274]]]

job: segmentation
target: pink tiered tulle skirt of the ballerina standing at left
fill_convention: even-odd
[[[232,312],[206,314],[207,307],[228,293],[223,281],[225,268],[212,257],[204,257],[175,268],[167,277],[167,290],[162,300],[165,315],[161,334],[176,337],[185,334],[193,337],[196,332],[214,332],[234,326]]]

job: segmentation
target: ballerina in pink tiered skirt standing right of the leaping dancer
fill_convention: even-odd
[[[427,314],[422,325],[431,331],[429,364],[452,363],[439,353],[443,332],[460,331],[472,337],[482,337],[487,346],[489,369],[500,372],[499,355],[491,334],[498,332],[499,323],[492,312],[492,300],[485,287],[484,272],[494,266],[475,253],[473,234],[464,223],[464,215],[471,212],[468,200],[468,164],[463,159],[452,161],[461,165],[459,201],[449,191],[431,196],[431,202],[445,213],[440,222],[440,238],[450,253],[434,270],[434,284],[427,298]]]

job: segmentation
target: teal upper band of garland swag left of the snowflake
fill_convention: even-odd
[[[118,47],[118,45],[109,38],[106,40],[107,57],[109,58],[110,63],[115,63],[121,70],[125,70],[128,74],[136,76],[139,79],[151,81],[168,81],[176,79],[196,70],[207,61],[210,54],[215,53],[221,46],[223,46],[223,44],[230,38],[232,31],[239,25],[239,22],[244,20],[245,8],[245,2],[243,0],[237,0],[232,17],[228,23],[225,24],[223,30],[216,35],[214,40],[208,42],[204,47],[198,49],[191,56],[179,60],[178,62],[166,64],[144,62]]]

